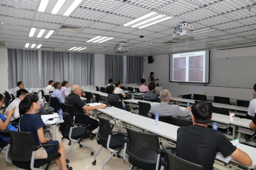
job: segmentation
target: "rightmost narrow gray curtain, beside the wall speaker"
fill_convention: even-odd
[[[143,78],[143,68],[143,57],[126,56],[126,84],[139,83]]]

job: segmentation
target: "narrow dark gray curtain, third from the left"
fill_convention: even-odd
[[[120,81],[123,83],[123,56],[105,55],[105,82],[108,84],[108,79]]]

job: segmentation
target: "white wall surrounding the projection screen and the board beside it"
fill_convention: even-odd
[[[227,50],[211,50],[211,60],[221,59],[230,57],[246,57],[246,56],[256,56],[256,48],[238,48],[238,49],[227,49]],[[211,66],[210,66],[211,67]],[[255,67],[256,67],[256,57],[255,57]],[[255,70],[252,68],[252,71]],[[144,60],[144,75],[147,79],[150,76],[150,72],[155,73],[155,78],[159,78],[159,86],[163,86],[163,89],[169,89],[172,96],[177,96],[182,93],[207,93],[208,96],[225,96],[234,99],[244,99],[251,100],[254,98],[253,86],[252,89],[246,88],[227,88],[227,87],[216,87],[216,86],[198,86],[198,85],[180,85],[177,82],[169,82],[169,55],[159,55],[154,56],[154,63],[148,64],[147,57]],[[225,73],[223,73],[225,74]],[[211,75],[210,75],[211,76]],[[228,75],[227,75],[228,76]],[[255,77],[251,77],[255,79]]]

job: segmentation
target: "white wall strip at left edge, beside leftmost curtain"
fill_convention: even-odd
[[[0,48],[0,93],[8,91],[8,63],[7,63],[7,49]]]

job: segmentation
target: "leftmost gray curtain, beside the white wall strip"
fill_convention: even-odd
[[[8,86],[15,88],[23,81],[25,87],[41,87],[40,60],[36,50],[8,49]]]

